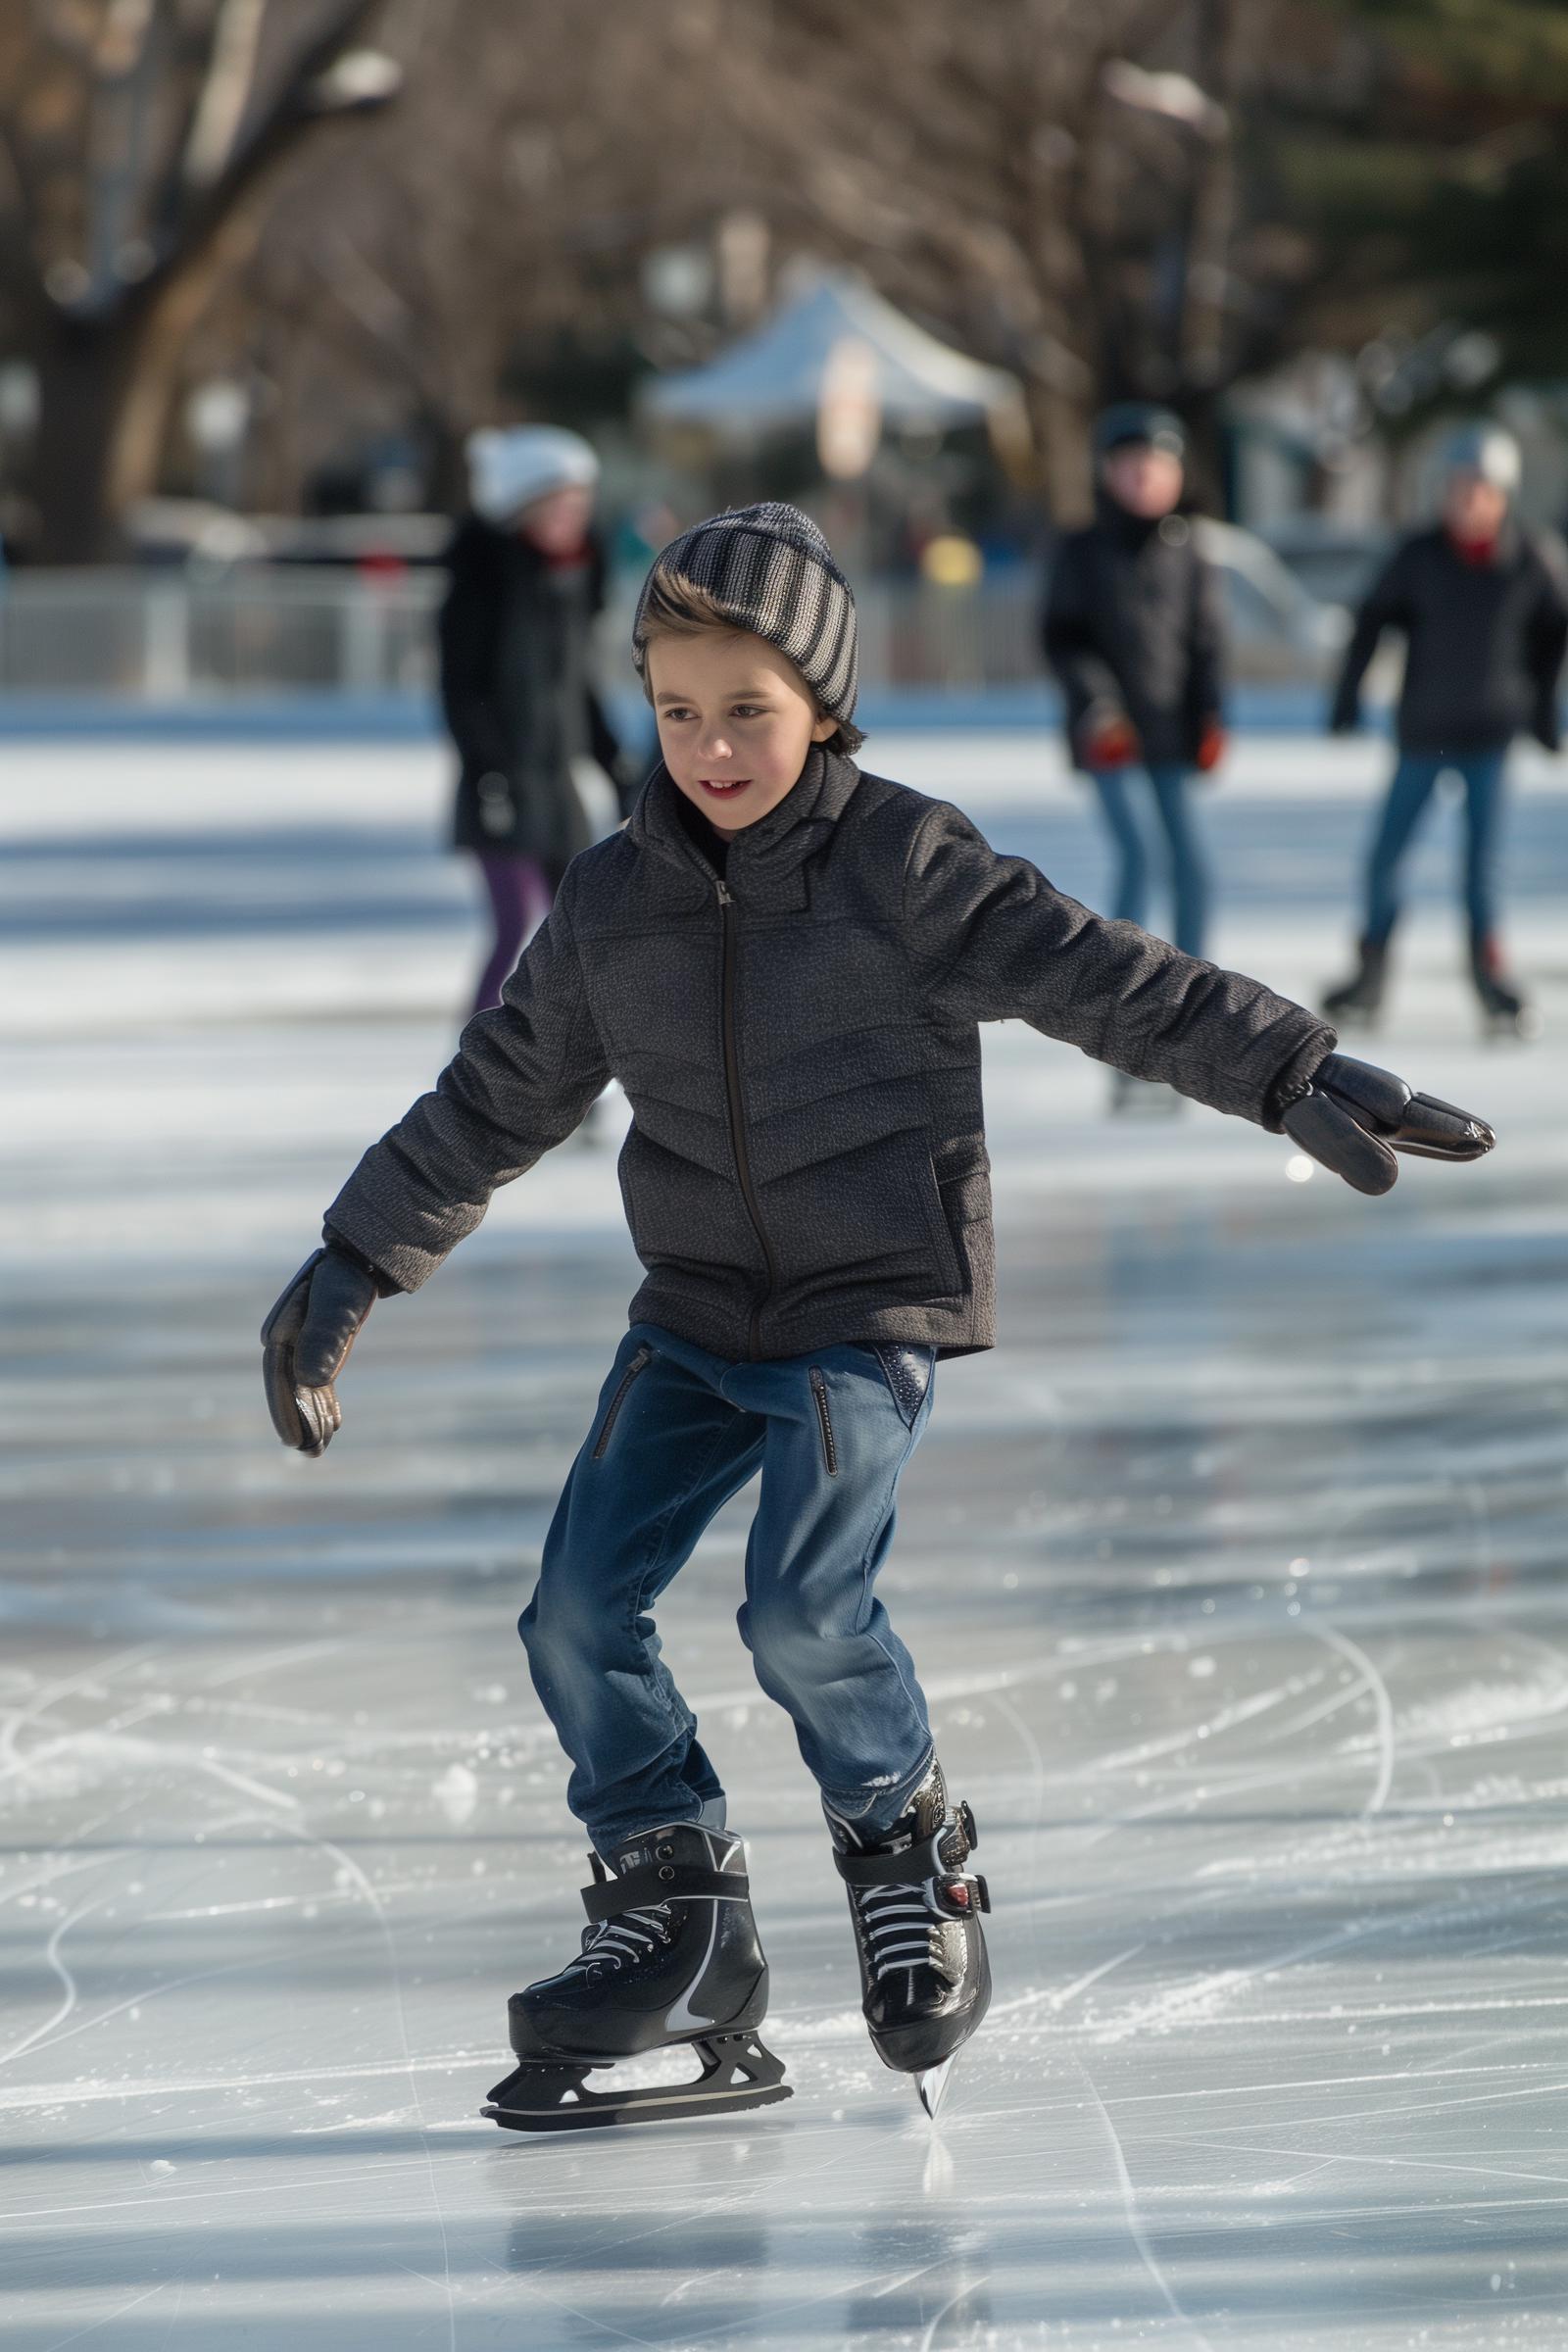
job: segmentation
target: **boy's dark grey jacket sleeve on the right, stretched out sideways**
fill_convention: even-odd
[[[905,924],[936,1014],[1027,1021],[1260,1127],[1279,1127],[1333,1051],[1335,1033],[1302,1004],[1091,915],[943,802],[910,847]]]

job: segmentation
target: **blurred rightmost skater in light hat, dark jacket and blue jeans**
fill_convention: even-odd
[[[1366,863],[1366,915],[1356,969],[1324,997],[1340,1021],[1371,1021],[1382,1004],[1389,936],[1399,920],[1399,866],[1453,769],[1465,786],[1469,974],[1488,1025],[1533,1035],[1535,1016],[1507,976],[1497,941],[1497,837],[1512,739],[1528,729],[1559,748],[1556,684],[1568,644],[1561,555],[1526,532],[1514,510],[1519,445],[1495,426],[1467,426],[1448,442],[1443,517],[1413,532],[1366,597],[1345,652],[1328,724],[1361,720],[1361,680],[1385,628],[1406,637],[1399,696],[1399,760]]]

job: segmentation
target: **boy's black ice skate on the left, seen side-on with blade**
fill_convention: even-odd
[[[672,1823],[621,1846],[611,1870],[588,1860],[583,1950],[508,2002],[520,2065],[482,2112],[508,2131],[581,2131],[790,2098],[757,2034],[769,1964],[741,1839]],[[595,2067],[684,2042],[703,2063],[696,2082],[588,2089]]]

